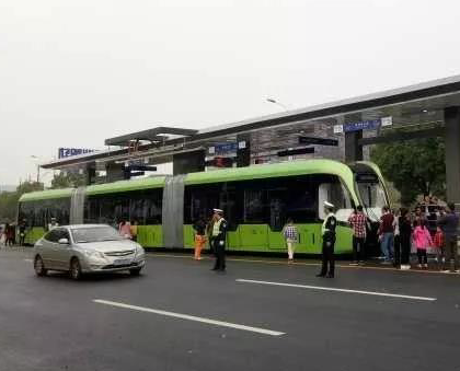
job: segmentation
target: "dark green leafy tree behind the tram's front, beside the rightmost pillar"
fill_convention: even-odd
[[[445,144],[440,138],[416,139],[376,146],[371,151],[383,176],[401,193],[403,205],[418,195],[446,195]]]

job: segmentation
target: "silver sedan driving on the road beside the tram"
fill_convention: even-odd
[[[69,271],[73,279],[89,273],[118,270],[138,276],[145,265],[143,248],[106,224],[58,227],[34,246],[37,276],[48,270]]]

